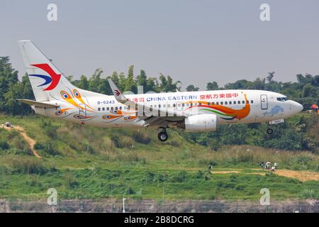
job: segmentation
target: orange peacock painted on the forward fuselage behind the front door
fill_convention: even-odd
[[[233,120],[233,119],[242,119],[247,117],[250,114],[250,103],[247,100],[246,94],[245,96],[245,106],[242,109],[231,109],[226,106],[221,106],[219,104],[212,104],[211,102],[207,101],[199,101],[198,106],[190,106],[187,109],[191,108],[198,108],[199,111],[207,111],[214,114],[217,114],[220,118],[224,120]],[[192,101],[189,101],[187,103],[192,103]]]

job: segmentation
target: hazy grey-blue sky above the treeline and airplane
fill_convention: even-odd
[[[56,22],[47,4],[57,4]],[[271,21],[259,19],[270,5]],[[237,79],[295,81],[319,74],[319,1],[6,1],[0,3],[0,56],[25,73],[17,40],[33,40],[65,73],[79,78],[144,69],[204,89]]]

